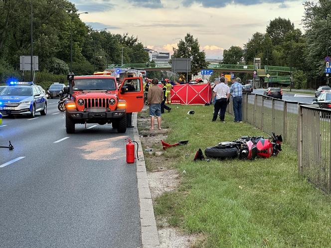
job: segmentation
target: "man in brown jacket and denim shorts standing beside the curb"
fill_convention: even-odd
[[[154,130],[154,119],[157,117],[159,130],[161,130],[161,103],[164,98],[164,93],[161,87],[158,86],[159,79],[152,80],[152,85],[149,87],[147,94],[147,103],[150,106],[151,128]]]

